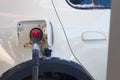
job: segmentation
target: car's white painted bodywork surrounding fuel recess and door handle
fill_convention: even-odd
[[[52,57],[77,62],[76,57],[95,80],[105,80],[110,10],[77,10],[65,0],[53,2],[75,56],[51,0],[0,0],[0,75],[32,56],[30,48],[17,45],[17,23],[47,18],[54,32]],[[102,33],[106,40],[83,41],[81,35],[86,31]]]

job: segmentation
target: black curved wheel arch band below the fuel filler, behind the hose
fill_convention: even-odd
[[[59,72],[76,80],[94,80],[79,64],[59,58],[40,59],[39,72]],[[21,63],[5,72],[0,80],[23,80],[32,75],[32,60]]]

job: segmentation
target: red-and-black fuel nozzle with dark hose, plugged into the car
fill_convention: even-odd
[[[32,80],[38,80],[39,78],[39,54],[40,54],[40,40],[43,37],[42,30],[34,28],[30,31],[30,39],[32,41],[32,62],[33,62],[33,74]]]

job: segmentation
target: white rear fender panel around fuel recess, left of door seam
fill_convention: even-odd
[[[32,49],[18,44],[18,22],[43,19],[51,21],[54,30],[52,57],[75,60],[51,0],[0,0],[0,75],[32,58]]]

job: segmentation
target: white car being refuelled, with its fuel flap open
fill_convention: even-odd
[[[41,80],[106,80],[110,6],[110,0],[0,0],[0,80],[31,80],[29,31],[41,26]]]

